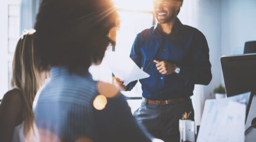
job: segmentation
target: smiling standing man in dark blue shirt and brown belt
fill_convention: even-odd
[[[207,85],[212,79],[209,47],[202,32],[177,18],[183,0],[153,4],[158,23],[137,35],[130,52],[138,67],[150,74],[140,80],[143,102],[134,116],[156,138],[180,141],[178,120],[185,113],[194,120],[194,84]],[[137,83],[124,86],[119,78],[114,81],[124,91]]]

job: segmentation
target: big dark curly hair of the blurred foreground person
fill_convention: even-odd
[[[60,65],[71,71],[101,62],[118,26],[110,0],[43,0],[34,29],[35,54],[42,69]]]

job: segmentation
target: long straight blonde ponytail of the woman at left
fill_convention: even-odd
[[[12,88],[22,92],[25,108],[23,110],[25,135],[33,129],[33,101],[41,86],[38,63],[34,59],[33,33],[23,34],[18,40],[12,61]]]

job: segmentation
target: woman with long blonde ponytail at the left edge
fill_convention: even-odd
[[[34,141],[37,137],[33,102],[46,74],[39,71],[33,56],[33,32],[23,34],[15,49],[12,89],[4,94],[0,105],[1,141]]]

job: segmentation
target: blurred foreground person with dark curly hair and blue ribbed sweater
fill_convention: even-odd
[[[50,80],[35,108],[41,141],[151,141],[116,86],[92,80],[119,25],[108,0],[43,0],[36,53]]]

